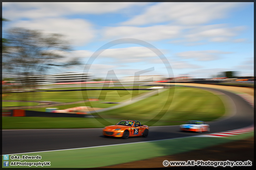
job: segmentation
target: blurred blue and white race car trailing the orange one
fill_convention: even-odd
[[[186,124],[180,125],[181,131],[209,132],[210,126],[204,121],[190,120]]]

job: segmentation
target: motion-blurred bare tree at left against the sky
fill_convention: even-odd
[[[11,28],[5,53],[2,53],[4,71],[19,75],[28,86],[31,75],[43,74],[54,67],[81,64],[78,58],[69,56],[71,44],[61,34],[47,34],[39,30]]]

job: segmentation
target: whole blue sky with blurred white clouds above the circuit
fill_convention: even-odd
[[[142,75],[254,76],[253,2],[2,2],[2,17],[10,20],[3,33],[23,27],[67,36],[74,51],[66,57],[84,65],[50,73],[84,72],[97,49],[132,38],[151,44],[167,61],[136,40],[121,40],[98,55],[89,72],[105,78],[114,70],[120,79],[148,68],[154,69]]]

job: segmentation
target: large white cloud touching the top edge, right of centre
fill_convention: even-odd
[[[141,15],[123,22],[123,25],[144,25],[173,22],[196,25],[227,17],[230,10],[241,7],[239,2],[162,2],[148,7]]]

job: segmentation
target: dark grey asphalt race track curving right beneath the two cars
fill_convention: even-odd
[[[238,95],[219,89],[196,88],[223,93],[219,96],[224,97],[225,106],[231,108],[232,113],[229,117],[209,123],[210,133],[244,128],[254,123],[254,109]],[[209,132],[201,134],[207,133]],[[149,127],[147,138],[130,137],[126,140],[103,137],[102,129],[2,130],[2,154],[113,145],[193,135],[198,135],[198,133],[181,132],[179,126]]]

